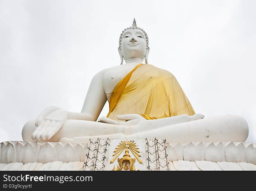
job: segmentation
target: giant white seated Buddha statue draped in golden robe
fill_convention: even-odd
[[[47,107],[37,119],[24,125],[23,140],[79,143],[90,138],[166,138],[168,142],[246,140],[248,125],[242,117],[204,118],[195,114],[173,74],[147,64],[147,33],[136,26],[135,19],[131,27],[122,31],[118,51],[121,65],[103,69],[93,77],[81,113]],[[109,113],[96,122],[106,101]]]

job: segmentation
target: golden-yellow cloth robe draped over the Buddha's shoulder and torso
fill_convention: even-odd
[[[140,114],[146,119],[194,115],[189,100],[170,72],[139,64],[115,86],[109,100],[108,118]]]

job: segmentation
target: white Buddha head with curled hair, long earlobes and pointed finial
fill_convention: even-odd
[[[118,52],[121,58],[121,64],[123,59],[129,58],[145,58],[147,64],[147,57],[149,53],[147,33],[142,28],[136,26],[135,19],[132,26],[122,31],[119,38]]]

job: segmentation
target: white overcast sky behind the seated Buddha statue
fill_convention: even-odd
[[[148,63],[174,74],[195,112],[240,115],[256,142],[255,10],[253,0],[0,0],[0,142],[22,140],[47,106],[80,112],[92,77],[120,64],[134,17]]]

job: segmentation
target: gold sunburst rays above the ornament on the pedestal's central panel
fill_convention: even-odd
[[[140,151],[138,150],[139,148],[137,147],[137,145],[133,142],[133,141],[122,141],[118,144],[118,147],[115,148],[116,150],[114,151],[113,156],[115,156],[110,163],[113,163],[116,158],[118,158],[118,156],[124,151],[124,150],[130,150],[131,153],[133,153],[133,155],[135,156],[135,158],[138,160],[139,163],[143,163],[142,160],[139,158],[141,157],[141,155],[139,154]]]

